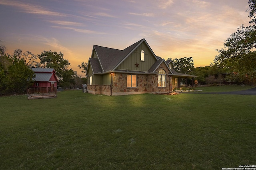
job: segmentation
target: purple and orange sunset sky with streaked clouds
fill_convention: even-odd
[[[0,43],[33,54],[88,63],[93,45],[125,49],[145,38],[162,59],[208,66],[224,41],[248,25],[248,0],[0,0]]]

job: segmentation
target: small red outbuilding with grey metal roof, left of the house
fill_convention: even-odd
[[[33,92],[48,93],[57,91],[58,78],[54,68],[31,68],[36,77],[31,87]]]

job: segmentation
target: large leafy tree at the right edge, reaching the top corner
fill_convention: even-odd
[[[241,25],[235,33],[224,41],[225,49],[220,49],[214,59],[218,68],[227,70],[229,78],[238,82],[256,81],[256,0],[249,0],[251,25]]]

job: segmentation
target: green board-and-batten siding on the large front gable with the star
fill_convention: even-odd
[[[144,61],[140,60],[141,51],[144,51]],[[156,62],[156,58],[145,43],[141,43],[116,69],[148,71]],[[136,63],[139,64],[136,67]]]

